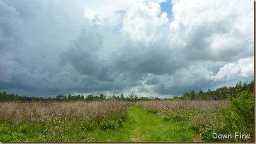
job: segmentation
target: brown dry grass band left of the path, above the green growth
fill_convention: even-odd
[[[42,120],[49,117],[70,116],[70,119],[102,121],[108,118],[122,118],[128,113],[126,102],[117,100],[93,102],[33,102],[33,103],[0,103],[0,119],[12,121],[24,120],[30,115],[31,120]]]

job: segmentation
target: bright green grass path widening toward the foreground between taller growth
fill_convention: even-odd
[[[161,116],[131,106],[123,127],[95,130],[87,136],[88,141],[109,142],[185,142],[193,141],[195,133],[184,124],[164,121]]]

